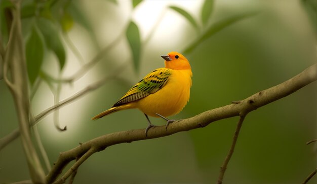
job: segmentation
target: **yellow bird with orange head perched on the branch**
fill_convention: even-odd
[[[167,116],[178,114],[189,101],[192,72],[187,58],[181,53],[173,51],[161,57],[165,60],[165,68],[147,74],[111,108],[91,119],[95,120],[120,110],[138,108],[148,122],[145,136],[150,128],[155,127],[148,116],[165,119],[167,129],[168,125],[175,121]]]

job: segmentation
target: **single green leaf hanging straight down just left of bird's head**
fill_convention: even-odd
[[[126,36],[130,44],[130,48],[133,55],[134,69],[136,72],[138,72],[139,63],[140,63],[140,53],[141,53],[141,40],[140,40],[139,28],[132,21],[130,22],[128,26]]]

